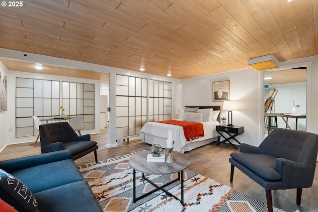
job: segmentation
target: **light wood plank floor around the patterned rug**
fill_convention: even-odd
[[[108,128],[102,130],[100,134],[92,134],[91,140],[98,142],[98,160],[105,161],[107,158],[121,156],[127,153],[149,150],[151,145],[141,141],[139,137],[131,138],[129,142],[118,142],[118,147],[107,148]],[[249,179],[238,169],[234,171],[234,182],[230,183],[230,163],[229,156],[233,151],[237,151],[230,144],[217,142],[186,152],[191,158],[189,169],[214,179],[215,181],[231,186],[252,198],[266,203],[265,190]],[[0,153],[0,160],[23,157],[28,155],[41,154],[40,144],[33,147],[32,143],[14,144],[4,148]],[[94,162],[94,154],[90,153],[75,161],[77,165]],[[318,211],[318,168],[316,168],[314,184],[311,188],[303,189],[302,204],[296,204],[296,189],[273,191],[273,206],[283,209],[286,212],[317,212]]]

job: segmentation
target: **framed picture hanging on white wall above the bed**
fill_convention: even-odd
[[[230,80],[213,82],[213,102],[230,100]]]

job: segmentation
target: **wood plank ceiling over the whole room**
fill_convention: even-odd
[[[0,48],[185,79],[317,55],[318,0],[28,0]]]

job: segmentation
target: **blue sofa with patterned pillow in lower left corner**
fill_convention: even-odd
[[[26,188],[14,196],[7,182]],[[68,150],[0,161],[0,199],[19,212],[102,212]]]

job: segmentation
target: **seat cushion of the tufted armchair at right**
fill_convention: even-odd
[[[280,181],[281,176],[275,170],[276,157],[265,154],[233,152],[231,157],[267,181]]]

